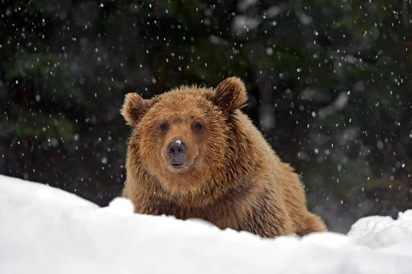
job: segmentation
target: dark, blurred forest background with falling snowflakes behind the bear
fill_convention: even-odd
[[[107,205],[124,95],[239,76],[244,112],[332,231],[412,208],[412,5],[403,0],[0,3],[0,173]]]

